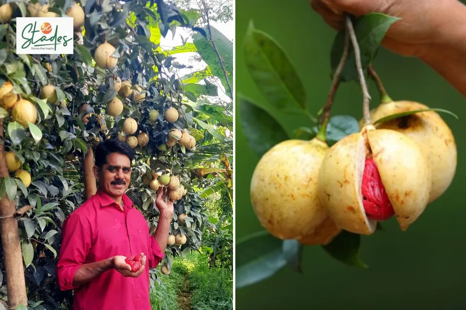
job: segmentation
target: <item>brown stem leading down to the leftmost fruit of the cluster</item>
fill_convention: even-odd
[[[343,72],[343,68],[345,67],[346,60],[348,59],[348,51],[350,50],[350,35],[348,33],[348,29],[346,30],[345,35],[345,47],[343,48],[343,54],[341,55],[340,62],[335,69],[335,74],[333,75],[332,86],[330,87],[330,92],[327,97],[327,104],[324,107],[324,111],[322,113],[322,120],[320,123],[320,128],[317,133],[316,138],[325,142],[327,141],[327,125],[329,124],[330,120],[330,110],[332,109],[333,98],[335,97],[335,93],[340,85],[340,77]]]

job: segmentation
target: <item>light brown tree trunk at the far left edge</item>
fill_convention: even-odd
[[[0,119],[0,140],[3,140],[3,119]],[[5,145],[0,143],[0,177],[8,177]],[[8,307],[15,309],[20,304],[27,306],[26,282],[24,278],[23,256],[19,242],[18,221],[14,217],[15,202],[10,202],[5,194],[0,200],[0,235],[3,250],[3,262],[6,273]]]

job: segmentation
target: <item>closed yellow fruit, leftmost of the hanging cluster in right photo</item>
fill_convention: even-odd
[[[262,156],[252,175],[251,203],[262,226],[279,239],[327,244],[337,228],[319,200],[317,177],[329,146],[286,140]]]

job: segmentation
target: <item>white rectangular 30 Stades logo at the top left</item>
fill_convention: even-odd
[[[73,17],[17,17],[17,54],[73,54]]]

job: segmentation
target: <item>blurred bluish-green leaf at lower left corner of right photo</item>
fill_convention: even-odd
[[[287,261],[282,252],[283,241],[267,232],[254,233],[236,243],[236,288],[270,278]]]

